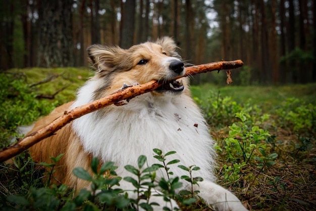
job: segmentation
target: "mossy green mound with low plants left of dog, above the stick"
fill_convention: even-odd
[[[32,86],[51,75],[60,76],[54,81]],[[10,70],[0,73],[0,148],[9,145],[13,137],[18,137],[16,128],[29,125],[40,116],[47,115],[56,106],[74,99],[76,89],[90,74],[80,68],[30,68]],[[74,84],[74,85],[73,85]],[[54,99],[41,99],[39,95],[53,95],[67,87]]]

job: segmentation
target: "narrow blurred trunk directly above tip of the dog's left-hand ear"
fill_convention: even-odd
[[[99,21],[99,0],[90,0],[91,10],[91,44],[101,43],[100,21]]]

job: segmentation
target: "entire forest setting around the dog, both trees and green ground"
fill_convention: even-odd
[[[190,87],[216,140],[218,184],[250,210],[315,209],[316,1],[0,0],[0,22],[0,148],[18,126],[75,99],[92,75],[89,45],[129,48],[167,35],[186,63],[244,61],[233,86],[213,72]],[[73,197],[52,185],[60,156],[38,164],[26,151],[14,166],[0,163],[0,209],[130,210],[112,186],[111,197]],[[183,210],[213,210],[190,197],[178,198]]]

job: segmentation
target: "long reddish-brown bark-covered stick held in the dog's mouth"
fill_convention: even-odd
[[[241,67],[243,62],[241,60],[235,61],[222,61],[222,62],[213,62],[208,64],[202,64],[192,67],[186,67],[186,73],[184,76],[179,76],[177,78],[186,77],[202,72],[209,72],[214,70],[222,70],[222,69],[234,69]],[[176,79],[177,79],[176,78]],[[50,124],[42,128],[41,130],[28,135],[27,137],[18,141],[18,143],[9,146],[8,148],[4,148],[0,151],[0,162],[6,161],[24,150],[28,149],[32,145],[37,142],[45,139],[51,135],[53,135],[56,131],[61,129],[64,125],[68,124],[72,120],[79,118],[87,113],[92,111],[96,111],[100,108],[109,106],[114,103],[118,103],[125,99],[131,99],[138,95],[151,92],[157,88],[162,86],[162,82],[157,82],[156,80],[149,81],[142,85],[128,87],[126,89],[120,90],[112,95],[101,98],[89,104],[76,107],[70,111],[65,111],[62,116],[52,121]]]

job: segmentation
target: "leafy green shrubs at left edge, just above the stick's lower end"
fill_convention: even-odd
[[[22,74],[0,73],[0,144],[8,145],[19,125],[27,125],[39,116],[48,114],[56,107],[54,103],[36,99]]]

